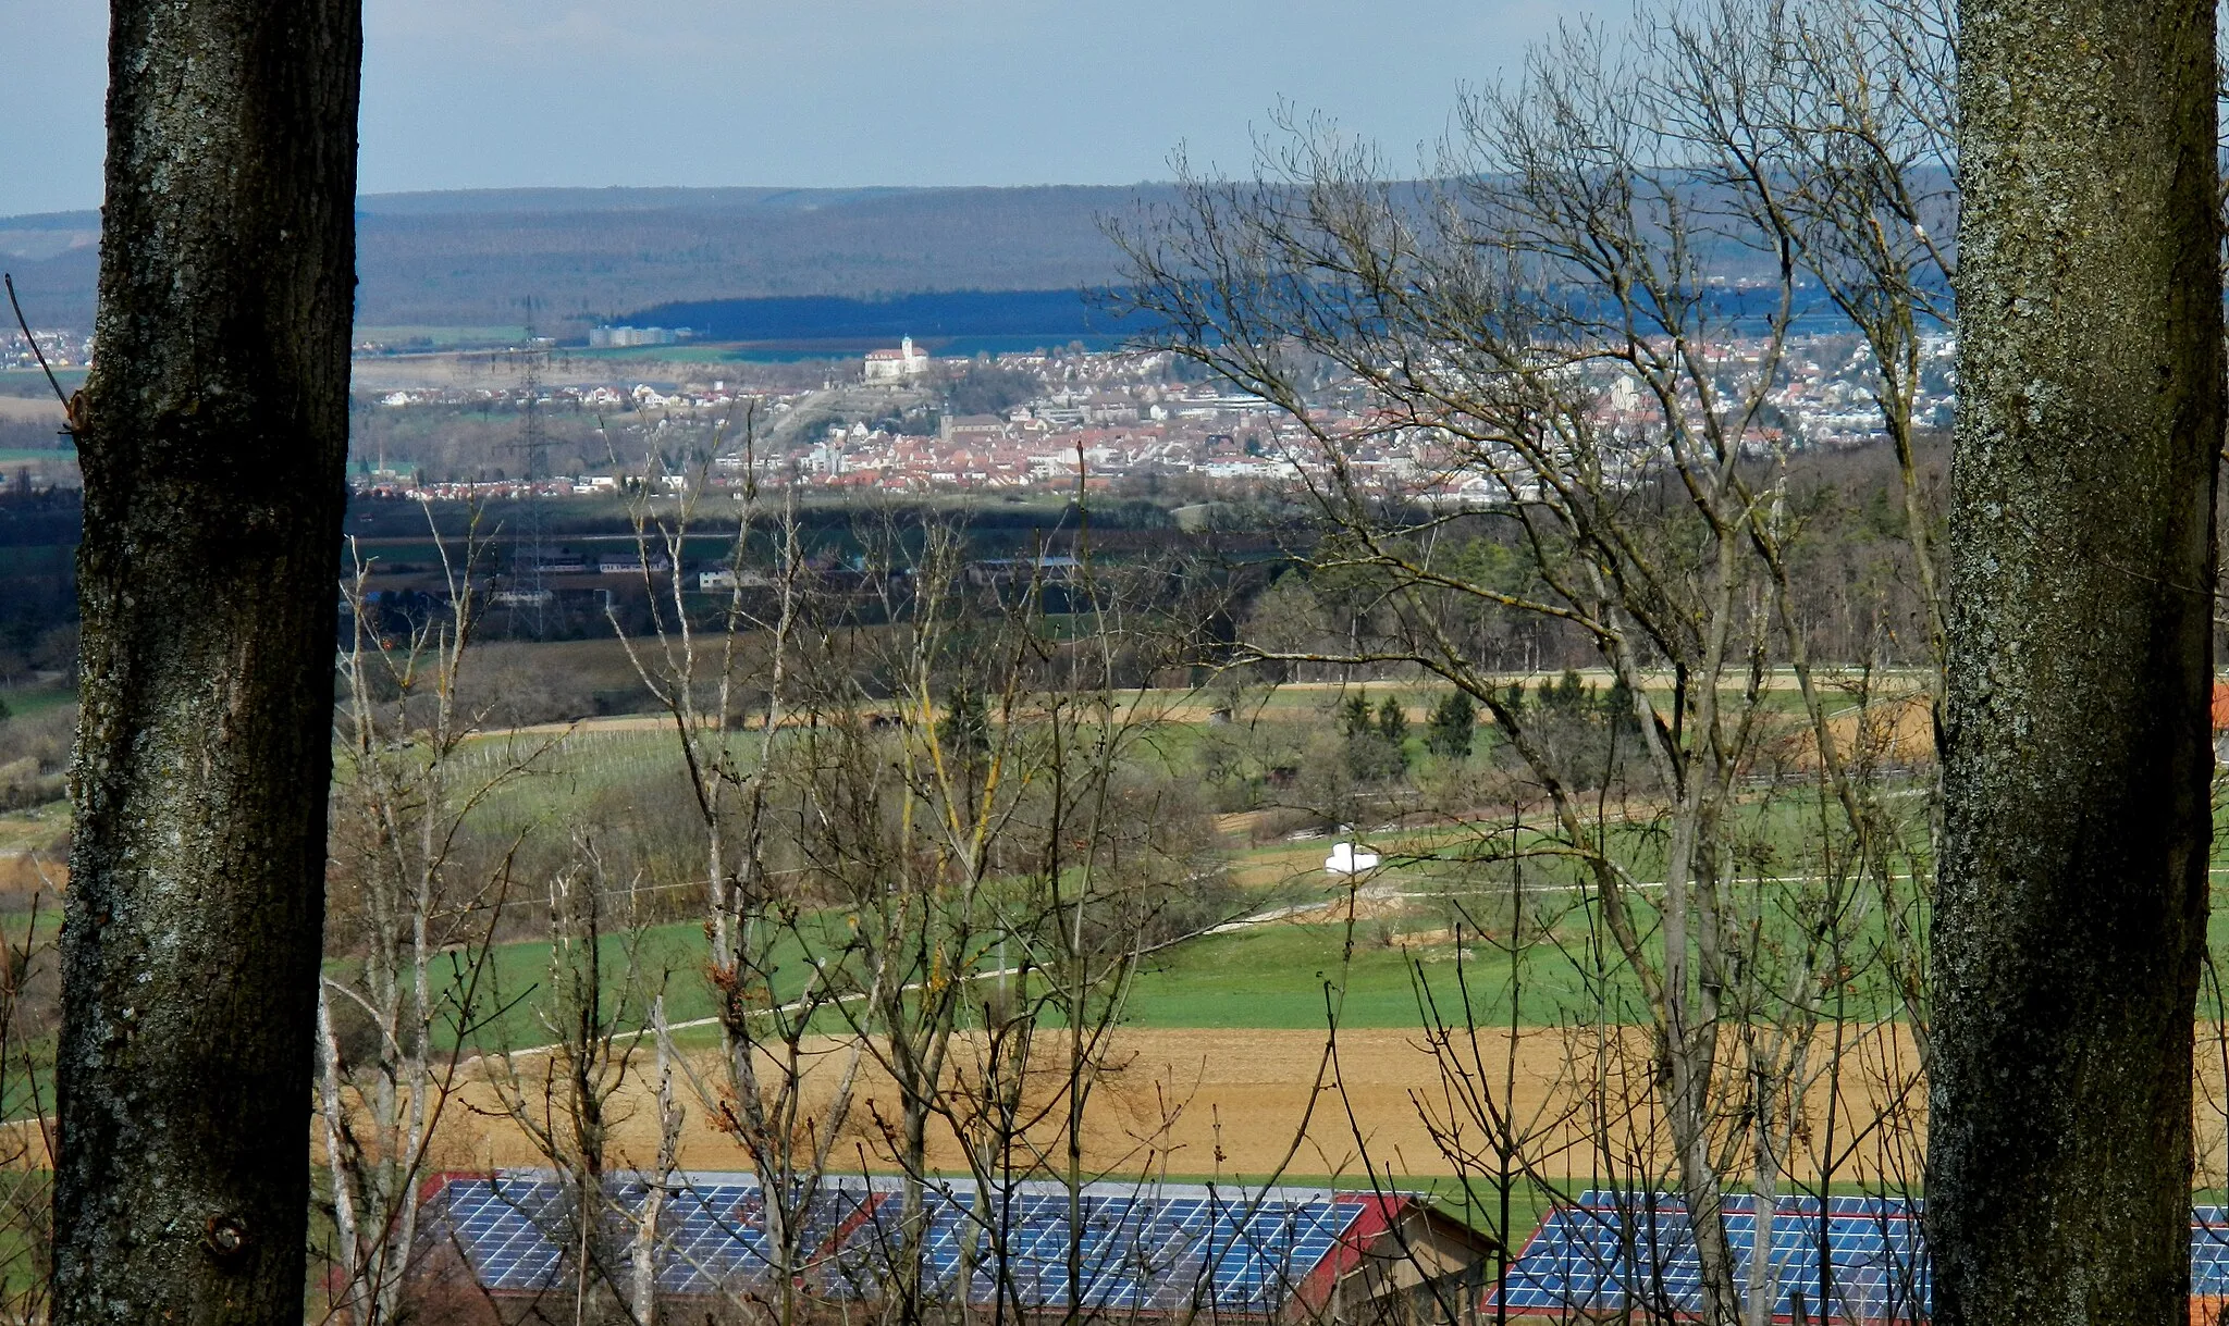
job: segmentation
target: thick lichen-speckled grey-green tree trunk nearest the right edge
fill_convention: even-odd
[[[2182,1322],[2222,316],[2213,4],[1966,0],[1935,1319]]]

